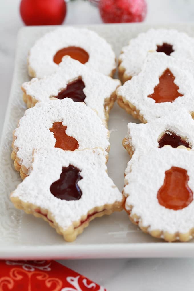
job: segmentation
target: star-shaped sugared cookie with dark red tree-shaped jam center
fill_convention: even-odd
[[[85,102],[88,107],[98,112],[100,118],[108,120],[118,86],[119,80],[104,76],[65,56],[54,74],[25,82],[22,90],[28,107],[33,107],[37,101],[48,101],[50,97],[70,97],[76,102]]]

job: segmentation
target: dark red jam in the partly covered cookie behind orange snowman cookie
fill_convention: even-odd
[[[186,148],[191,148],[189,143],[181,139],[180,135],[171,131],[166,131],[161,139],[158,141],[159,148],[163,148],[164,145],[171,145],[172,148],[177,148],[179,145],[184,145]]]

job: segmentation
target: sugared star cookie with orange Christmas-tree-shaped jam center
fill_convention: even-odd
[[[118,104],[144,123],[180,108],[193,115],[194,62],[149,53],[142,71],[116,93]]]

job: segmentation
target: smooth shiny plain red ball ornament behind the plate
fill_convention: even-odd
[[[66,3],[64,0],[22,0],[20,14],[26,25],[62,24]]]

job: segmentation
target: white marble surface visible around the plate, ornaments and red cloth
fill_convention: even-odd
[[[147,0],[145,22],[192,22],[193,0]],[[23,26],[19,0],[0,1],[0,136],[14,67],[17,31]],[[65,24],[101,23],[97,8],[87,1],[68,4]],[[194,259],[63,260],[67,267],[88,276],[109,291],[193,290]]]

